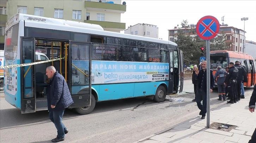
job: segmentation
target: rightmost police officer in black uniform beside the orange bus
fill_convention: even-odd
[[[235,65],[234,65],[235,68],[238,69],[238,77],[237,77],[237,85],[236,85],[236,100],[240,100],[241,98],[241,84],[242,84],[242,81],[243,82],[247,82],[247,75],[246,75],[246,71],[244,69],[243,66],[240,65],[240,62],[239,61],[236,61],[235,62]],[[242,97],[244,98],[244,96]]]

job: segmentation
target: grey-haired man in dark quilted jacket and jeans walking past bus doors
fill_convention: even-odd
[[[69,107],[73,103],[73,100],[67,82],[53,66],[46,68],[46,75],[50,79],[47,88],[49,118],[57,129],[57,137],[51,141],[60,142],[64,141],[65,134],[68,133],[67,128],[62,123],[62,116],[65,108]]]

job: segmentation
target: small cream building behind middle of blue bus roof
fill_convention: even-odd
[[[124,30],[124,33],[158,39],[158,27],[151,24],[138,23],[134,26],[129,26]]]

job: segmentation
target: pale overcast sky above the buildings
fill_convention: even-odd
[[[122,0],[126,2],[126,12],[121,14],[121,22],[130,25],[145,23],[157,25],[159,38],[168,40],[168,29],[173,29],[183,20],[196,24],[203,16],[212,15],[221,24],[244,29],[246,40],[256,42],[256,0]],[[124,33],[124,31],[121,31]]]

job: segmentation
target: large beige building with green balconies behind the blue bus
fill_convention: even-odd
[[[1,26],[16,13],[44,16],[97,24],[104,30],[120,32],[126,25],[121,14],[126,12],[121,0],[0,0]],[[1,36],[1,42],[2,42]]]

